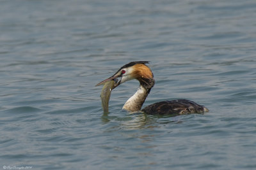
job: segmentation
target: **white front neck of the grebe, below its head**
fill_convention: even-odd
[[[148,96],[148,90],[140,85],[137,92],[126,101],[123,106],[124,110],[139,111]]]

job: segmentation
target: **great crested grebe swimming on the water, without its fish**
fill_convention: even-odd
[[[126,101],[123,107],[123,109],[127,111],[140,111],[141,106],[155,83],[152,71],[145,64],[148,64],[148,61],[129,62],[118,69],[113,76],[101,81],[96,86],[114,80],[115,78],[121,78],[121,80],[115,84],[115,87],[132,79],[140,81],[140,87],[137,92]],[[178,99],[150,104],[141,111],[150,115],[183,115],[189,113],[204,113],[209,110],[193,101]]]

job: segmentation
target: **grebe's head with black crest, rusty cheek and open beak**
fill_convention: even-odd
[[[120,69],[118,69],[118,71],[113,76],[101,81],[96,86],[102,85],[110,80],[114,80],[115,78],[121,78],[118,83],[116,83],[115,87],[118,87],[118,85],[124,83],[125,81],[137,79],[140,81],[141,85],[147,89],[150,89],[154,85],[154,75],[150,68],[145,65],[147,63],[148,61],[129,62],[128,64],[125,64]]]

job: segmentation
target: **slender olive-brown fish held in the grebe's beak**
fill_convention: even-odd
[[[117,83],[117,78],[114,80],[108,81],[104,83],[104,86],[102,88],[100,99],[101,99],[101,106],[103,109],[103,113],[109,113],[108,111],[108,103],[111,96],[112,89],[115,88],[115,84]]]

